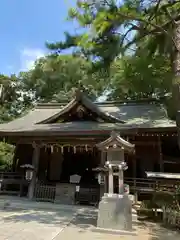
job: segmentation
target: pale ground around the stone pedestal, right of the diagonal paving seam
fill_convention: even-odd
[[[180,233],[150,222],[135,222],[134,231],[130,234],[100,233],[94,227],[95,220],[95,218],[79,214],[54,240],[70,240],[73,237],[76,237],[78,240],[180,240]]]

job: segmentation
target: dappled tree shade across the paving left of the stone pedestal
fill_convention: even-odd
[[[4,213],[4,214],[3,214]],[[84,207],[73,210],[2,210],[1,221],[6,223],[36,222],[48,225],[75,225],[82,229],[95,227],[97,222],[97,210]]]

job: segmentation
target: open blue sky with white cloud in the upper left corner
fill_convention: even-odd
[[[75,0],[0,0],[0,72],[18,73],[46,53],[45,42],[73,32],[67,11]]]

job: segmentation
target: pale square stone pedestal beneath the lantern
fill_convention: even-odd
[[[132,202],[126,194],[107,194],[99,203],[97,227],[132,230]]]

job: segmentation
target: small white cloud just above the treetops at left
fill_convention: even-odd
[[[34,67],[38,58],[44,57],[45,52],[39,48],[24,48],[21,51],[21,71],[26,71]]]

